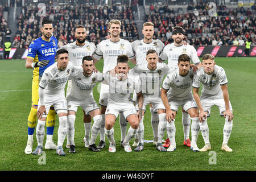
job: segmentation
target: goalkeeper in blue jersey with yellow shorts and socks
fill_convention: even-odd
[[[38,109],[38,88],[39,82],[46,68],[55,62],[55,53],[57,50],[57,39],[52,36],[53,26],[51,20],[44,19],[42,22],[42,36],[31,42],[28,48],[26,68],[33,69],[32,77],[32,106],[28,115],[28,140],[25,148],[25,154],[31,154],[33,147],[33,135],[36,126],[36,112]],[[56,145],[52,142],[52,135],[55,126],[55,111],[51,107],[49,110],[46,126],[47,137],[44,148],[56,149]]]

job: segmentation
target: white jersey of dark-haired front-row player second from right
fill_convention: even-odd
[[[192,95],[192,82],[193,82],[193,71],[189,69],[188,75],[181,76],[179,68],[166,76],[163,81],[163,89],[168,90],[167,98],[171,100],[186,100],[193,98]]]

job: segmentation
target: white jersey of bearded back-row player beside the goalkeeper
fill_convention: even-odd
[[[60,49],[66,49],[68,51],[69,61],[73,63],[74,67],[81,67],[82,58],[84,56],[93,56],[96,51],[94,43],[85,41],[84,46],[77,46],[76,42],[66,44]]]

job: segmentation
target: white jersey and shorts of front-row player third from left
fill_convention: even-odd
[[[128,73],[127,79],[121,81],[117,78],[117,75],[111,77],[107,73],[104,74],[104,79],[110,86],[108,106],[105,115],[113,114],[117,118],[120,112],[127,118],[131,114],[137,114],[131,96],[133,90],[136,90],[137,93],[141,92],[139,77]]]

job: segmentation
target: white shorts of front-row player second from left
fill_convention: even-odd
[[[93,110],[100,109],[93,97],[85,98],[85,100],[80,101],[76,98],[67,97],[67,105],[68,110],[75,112],[77,111],[77,108],[81,106],[86,115],[89,115],[89,113]]]

